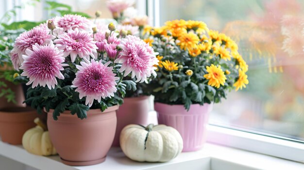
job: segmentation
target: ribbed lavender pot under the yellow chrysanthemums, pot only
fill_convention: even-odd
[[[183,152],[197,151],[206,141],[206,124],[212,104],[193,104],[187,111],[184,105],[154,104],[158,124],[175,128],[184,140]]]

